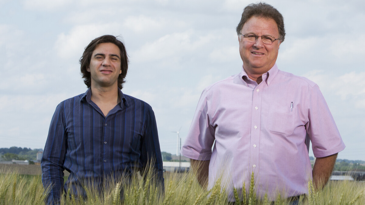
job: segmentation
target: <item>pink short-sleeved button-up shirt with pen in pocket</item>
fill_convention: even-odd
[[[252,172],[258,196],[274,200],[308,192],[310,141],[315,157],[345,148],[318,86],[275,64],[260,84],[242,69],[205,88],[181,154],[210,160],[208,188],[222,178],[230,200]]]

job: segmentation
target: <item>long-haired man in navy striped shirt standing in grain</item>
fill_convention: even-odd
[[[128,69],[124,44],[104,35],[91,41],[80,59],[88,90],[61,102],[53,115],[42,157],[42,182],[51,187],[47,204],[62,192],[85,197],[84,186],[97,189],[151,167],[164,185],[154,112],[149,104],[122,93]],[[64,184],[64,173],[70,175]],[[90,182],[92,181],[92,182]]]

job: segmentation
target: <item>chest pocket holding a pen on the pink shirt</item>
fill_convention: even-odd
[[[270,105],[267,128],[270,132],[284,135],[292,134],[295,124],[295,108],[287,106]]]

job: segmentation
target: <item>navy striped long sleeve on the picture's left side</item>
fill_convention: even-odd
[[[46,204],[58,204],[63,192],[63,163],[66,154],[67,138],[64,124],[64,109],[61,103],[57,106],[51,120],[41,161],[42,183],[45,188],[50,188],[49,194],[46,197]]]

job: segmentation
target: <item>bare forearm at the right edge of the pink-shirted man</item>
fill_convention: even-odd
[[[316,158],[313,166],[313,184],[315,189],[323,189],[331,176],[333,167],[335,165],[337,153]]]

